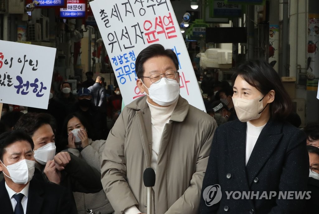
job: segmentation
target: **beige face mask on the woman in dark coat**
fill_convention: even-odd
[[[247,122],[249,120],[258,119],[261,115],[261,112],[263,112],[264,110],[262,102],[263,97],[258,96],[252,100],[246,100],[243,98],[233,98],[234,108],[238,119],[241,122]]]

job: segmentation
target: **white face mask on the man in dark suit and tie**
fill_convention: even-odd
[[[8,178],[11,178],[11,180],[17,184],[26,184],[27,182],[31,181],[33,177],[34,163],[34,160],[26,159],[20,160],[19,162],[8,166],[4,166],[4,164],[2,163],[2,165],[8,169],[11,177],[6,175],[4,172],[3,174]]]

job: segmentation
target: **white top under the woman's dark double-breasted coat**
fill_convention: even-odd
[[[266,124],[265,124],[266,125]],[[247,130],[246,130],[246,166],[249,160],[249,157],[255,147],[257,139],[260,135],[260,132],[263,130],[262,126],[254,126],[249,121],[247,122]]]

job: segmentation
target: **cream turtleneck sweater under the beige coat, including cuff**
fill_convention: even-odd
[[[178,100],[178,99],[177,99]],[[156,173],[157,168],[157,158],[159,154],[159,148],[161,144],[162,134],[165,124],[170,120],[172,113],[176,107],[177,100],[175,103],[167,107],[159,107],[148,102],[151,111],[151,123],[152,123],[152,158],[151,158],[151,167]],[[131,206],[128,209],[124,210],[124,214],[138,214],[141,213],[137,207]]]

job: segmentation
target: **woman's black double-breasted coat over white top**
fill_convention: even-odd
[[[279,191],[307,191],[306,135],[288,123],[268,121],[245,166],[246,129],[247,124],[239,120],[216,129],[203,180],[200,213],[304,213],[305,200],[283,200],[278,195]],[[214,184],[220,185],[222,197],[219,203],[207,206],[203,191]],[[227,199],[226,191],[259,191],[259,196],[236,200],[231,195]],[[275,191],[276,197],[260,199],[263,191],[268,196]]]

